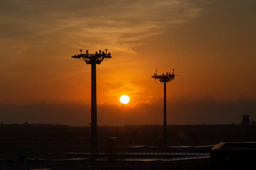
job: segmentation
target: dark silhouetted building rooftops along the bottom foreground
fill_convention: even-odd
[[[244,170],[254,167],[256,150],[251,142],[166,148],[137,145],[130,152],[117,153],[114,142],[106,144],[105,153],[71,152],[65,159],[31,158],[33,153],[24,149],[16,159],[1,159],[0,170]]]

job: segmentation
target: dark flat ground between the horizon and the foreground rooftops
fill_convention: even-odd
[[[169,146],[215,145],[219,142],[256,141],[256,126],[168,125]],[[98,147],[105,151],[108,137],[118,138],[119,152],[133,145],[159,144],[161,125],[98,127]],[[19,150],[30,150],[40,158],[66,158],[68,152],[90,152],[90,128],[67,125],[0,125],[0,157],[11,158]]]

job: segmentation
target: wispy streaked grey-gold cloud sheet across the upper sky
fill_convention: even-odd
[[[23,51],[61,43],[133,53],[139,40],[202,13],[200,3],[189,0],[8,0],[0,10],[0,40]]]

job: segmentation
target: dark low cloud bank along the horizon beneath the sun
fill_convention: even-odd
[[[151,97],[134,107],[109,103],[97,106],[98,125],[161,124],[163,121],[163,98]],[[177,124],[231,124],[241,122],[243,114],[256,120],[256,99],[241,98],[236,101],[219,102],[202,97],[192,102],[167,103],[167,122]],[[90,122],[90,104],[66,102],[61,104],[0,105],[1,120],[9,123],[60,123],[84,126]]]

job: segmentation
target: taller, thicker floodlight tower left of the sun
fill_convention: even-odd
[[[91,65],[91,150],[92,153],[97,153],[97,100],[96,100],[96,64],[100,64],[104,59],[111,58],[110,53],[107,54],[108,49],[105,52],[99,50],[95,54],[89,54],[86,50],[86,54],[82,54],[82,49],[80,49],[80,54],[72,56],[72,58],[79,58],[86,62],[86,64]]]

